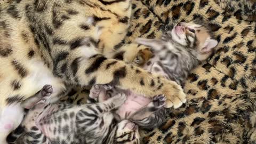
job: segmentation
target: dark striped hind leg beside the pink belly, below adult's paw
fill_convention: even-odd
[[[166,98],[158,95],[153,98],[145,108],[133,114],[130,119],[144,129],[151,129],[161,125],[166,119],[166,108],[164,108]]]

